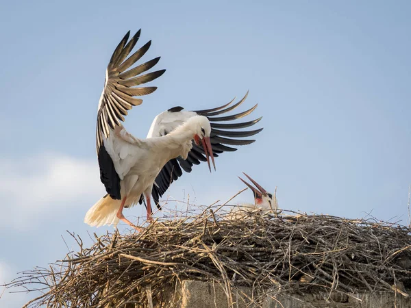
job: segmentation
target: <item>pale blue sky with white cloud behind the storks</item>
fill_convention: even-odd
[[[277,186],[285,209],[408,223],[408,1],[138,2],[0,4],[0,283],[61,259],[62,236],[76,249],[66,230],[112,230],[83,218],[104,192],[95,118],[105,67],[129,29],[142,28],[138,46],[153,40],[144,60],[160,55],[167,70],[127,116],[135,136],[169,107],[214,107],[247,90],[264,116],[257,142],[221,155],[212,174],[196,166],[166,196],[226,201],[245,171]],[[5,292],[0,306],[32,296]]]

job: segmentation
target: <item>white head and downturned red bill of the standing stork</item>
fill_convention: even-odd
[[[211,134],[211,125],[210,121],[206,116],[193,116],[190,118],[190,128],[194,132],[194,136],[192,137],[194,139],[195,144],[197,145],[202,145],[204,154],[206,154],[206,159],[208,163],[208,168],[210,169],[211,172],[211,166],[210,166],[210,159],[212,161],[212,166],[214,167],[214,170],[216,170],[216,164],[214,162],[214,154],[212,153],[212,146],[211,146],[211,141],[210,141],[210,134]]]

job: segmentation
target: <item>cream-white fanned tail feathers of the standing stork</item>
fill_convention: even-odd
[[[87,211],[84,222],[91,227],[101,227],[104,224],[114,224],[116,227],[119,223],[117,211],[120,206],[121,200],[114,200],[109,195],[105,195]]]

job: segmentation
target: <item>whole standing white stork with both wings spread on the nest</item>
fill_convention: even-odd
[[[227,107],[232,103],[230,102],[221,107],[197,112],[173,107],[155,117],[146,139],[135,138],[129,134],[120,120],[124,120],[123,116],[127,115],[127,110],[132,109],[132,106],[142,103],[141,99],[134,96],[150,94],[156,90],[155,87],[134,86],[153,81],[165,71],[158,70],[141,75],[157,64],[160,57],[130,68],[147,52],[151,43],[148,42],[127,57],[139,36],[140,30],[127,42],[129,31],[127,32],[116,47],[106,71],[105,86],[97,112],[97,157],[100,178],[108,194],[88,210],[84,222],[91,226],[117,224],[119,220],[123,220],[135,227],[123,216],[123,208],[131,207],[138,201],[142,203],[144,197],[147,201],[147,219],[151,220],[150,194],[158,205],[159,196],[182,175],[182,169],[190,172],[193,164],[204,161],[208,162],[211,171],[210,159],[215,169],[214,156],[218,156],[217,153],[236,151],[224,144],[249,144],[255,141],[221,136],[245,137],[261,131],[221,130],[249,127],[261,118],[247,123],[219,123],[246,116],[253,112],[257,105],[240,114],[212,117],[238,107],[245,100],[244,97],[232,107]]]

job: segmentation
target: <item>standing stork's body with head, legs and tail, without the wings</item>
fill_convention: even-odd
[[[122,211],[123,207],[132,207],[138,203],[142,194],[147,201],[147,219],[150,220],[150,194],[155,177],[170,159],[179,156],[186,159],[192,148],[192,140],[202,140],[207,152],[210,149],[210,131],[210,123],[204,116],[190,118],[164,137],[143,140],[134,138],[123,127],[117,127],[104,140],[104,146],[119,175],[123,198],[116,200],[109,195],[104,196],[87,212],[84,221],[99,227],[116,224],[121,219],[134,226],[123,216]],[[212,157],[212,153],[210,155]]]

